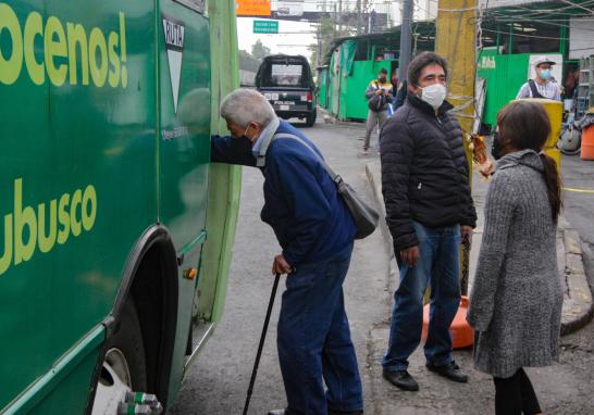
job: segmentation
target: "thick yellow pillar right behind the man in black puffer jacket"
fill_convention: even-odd
[[[468,133],[474,122],[474,74],[477,67],[477,0],[440,0],[435,51],[447,60],[448,101],[458,108],[455,115],[462,127],[470,184],[472,154]],[[462,250],[462,264],[468,264],[469,250]],[[463,267],[462,267],[463,268]],[[465,275],[466,274],[466,275]],[[460,288],[468,292],[468,273],[462,273]]]

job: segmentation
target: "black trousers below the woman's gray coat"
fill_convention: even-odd
[[[534,415],[542,412],[532,383],[522,368],[510,378],[494,377],[493,381],[496,415]]]

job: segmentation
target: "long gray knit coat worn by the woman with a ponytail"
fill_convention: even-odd
[[[502,158],[488,189],[468,322],[474,365],[496,377],[558,362],[562,289],[543,164],[532,150]]]

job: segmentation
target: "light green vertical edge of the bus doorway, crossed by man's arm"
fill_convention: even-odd
[[[228,134],[219,114],[223,98],[239,87],[234,0],[208,1],[211,50],[211,131]],[[199,317],[216,323],[223,314],[227,276],[242,191],[242,167],[211,164],[207,213],[208,240],[198,282]]]

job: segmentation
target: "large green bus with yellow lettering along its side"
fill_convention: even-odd
[[[224,305],[237,66],[233,0],[0,0],[1,414],[171,405]]]

